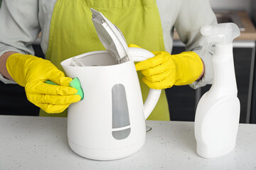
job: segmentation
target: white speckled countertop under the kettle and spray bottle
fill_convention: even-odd
[[[256,125],[240,124],[233,152],[216,159],[196,154],[191,122],[147,121],[142,149],[115,161],[93,161],[68,146],[67,118],[0,115],[0,169],[256,169]]]

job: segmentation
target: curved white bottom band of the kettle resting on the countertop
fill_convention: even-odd
[[[82,157],[87,159],[95,159],[95,160],[114,160],[114,159],[122,159],[124,157],[129,157],[130,155],[136,153],[141,149],[144,145],[145,140],[139,141],[133,145],[129,145],[128,147],[115,148],[115,149],[90,149],[87,147],[81,147],[80,145],[75,144],[70,139],[68,139],[68,144],[70,148],[76,154],[79,154]]]

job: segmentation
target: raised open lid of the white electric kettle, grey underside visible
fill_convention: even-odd
[[[99,11],[92,11],[92,22],[102,45],[119,63],[129,60],[128,46],[122,32]]]

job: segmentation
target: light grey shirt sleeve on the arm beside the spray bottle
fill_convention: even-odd
[[[213,13],[208,0],[193,0],[183,1],[174,23],[181,42],[186,45],[187,51],[194,51],[200,56],[203,47],[203,35],[201,35],[201,27],[205,25],[216,24],[217,19]],[[203,77],[195,81],[190,86],[196,89],[206,84],[211,84],[213,80],[213,68],[210,58],[213,51],[208,52],[207,55],[200,56],[205,65],[205,73]]]

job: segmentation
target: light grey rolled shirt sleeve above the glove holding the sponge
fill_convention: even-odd
[[[0,30],[0,56],[8,51],[34,55],[32,43],[41,31],[38,22],[38,1],[2,1]],[[4,83],[14,83],[2,75],[0,80]]]

